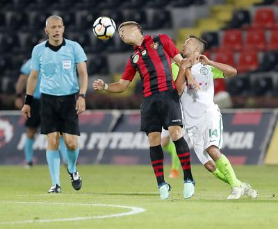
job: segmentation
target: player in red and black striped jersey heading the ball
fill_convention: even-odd
[[[136,22],[124,22],[118,30],[122,41],[133,45],[134,53],[129,57],[124,74],[118,82],[106,84],[98,79],[92,87],[95,90],[123,92],[138,71],[142,86],[140,130],[145,131],[149,137],[150,157],[161,199],[168,198],[170,191],[170,185],[165,183],[163,173],[162,128],[170,131],[183,168],[183,196],[190,198],[194,194],[195,181],[190,169],[188,144],[181,130],[179,95],[171,70],[171,59],[180,65],[183,58],[167,35],[144,36],[142,28]],[[194,83],[192,78],[188,78],[188,83]]]

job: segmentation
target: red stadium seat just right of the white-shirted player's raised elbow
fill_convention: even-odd
[[[236,69],[238,72],[254,71],[259,67],[258,53],[252,49],[240,52],[239,62]]]

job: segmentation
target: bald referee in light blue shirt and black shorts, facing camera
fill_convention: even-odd
[[[80,135],[78,115],[85,111],[85,93],[88,87],[85,64],[87,57],[77,42],[63,38],[65,26],[61,17],[57,15],[48,17],[44,31],[49,39],[33,48],[31,73],[28,76],[22,113],[26,119],[31,117],[31,103],[40,72],[42,75],[40,83],[41,133],[47,135],[46,155],[52,181],[48,192],[61,192],[59,133],[63,133],[67,146],[67,172],[72,186],[79,190],[82,181],[76,170],[79,155],[78,136]],[[78,93],[79,96],[76,96]]]

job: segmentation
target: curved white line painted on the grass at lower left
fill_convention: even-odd
[[[101,207],[122,207],[131,209],[129,212],[118,213],[118,214],[108,214],[104,216],[92,216],[92,217],[75,217],[75,218],[62,218],[62,219],[32,219],[24,221],[14,221],[14,222],[0,222],[0,225],[3,224],[20,224],[20,223],[49,223],[57,221],[79,221],[86,219],[105,219],[112,217],[126,217],[132,214],[139,214],[145,212],[145,209],[142,207],[133,207],[133,206],[123,206],[123,205],[110,205],[110,204],[99,204],[99,203],[47,203],[47,202],[1,202],[1,203],[15,203],[15,204],[49,204],[49,205],[87,205],[87,206],[101,206]]]

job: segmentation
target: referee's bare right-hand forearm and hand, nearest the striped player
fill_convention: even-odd
[[[88,72],[87,72],[87,66],[86,62],[80,62],[76,65],[77,71],[79,73],[79,85],[80,90],[79,94],[86,94],[87,88],[88,88]],[[86,109],[85,106],[85,98],[82,96],[79,96],[79,99],[76,101],[76,113],[82,114]]]

